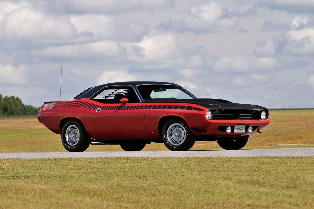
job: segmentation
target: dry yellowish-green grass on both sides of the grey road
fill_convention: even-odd
[[[314,109],[270,115],[244,148],[314,147]],[[192,148],[208,149],[220,147]],[[66,150],[36,116],[23,116],[0,117],[0,152]],[[0,208],[314,208],[313,170],[314,157],[0,159]]]

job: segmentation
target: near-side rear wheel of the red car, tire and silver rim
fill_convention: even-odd
[[[90,144],[90,137],[81,122],[68,120],[62,127],[61,140],[69,152],[83,152]]]

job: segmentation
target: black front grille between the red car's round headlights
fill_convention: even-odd
[[[261,112],[263,110],[211,110],[211,111],[213,113],[212,120],[261,120]]]

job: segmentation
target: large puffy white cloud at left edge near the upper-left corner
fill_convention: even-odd
[[[2,40],[50,42],[75,36],[75,28],[68,17],[47,15],[29,6],[6,13],[0,23],[0,31]]]

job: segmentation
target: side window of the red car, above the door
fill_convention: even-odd
[[[120,103],[122,98],[127,98],[129,103],[139,102],[132,87],[105,88],[93,100],[101,103]]]

